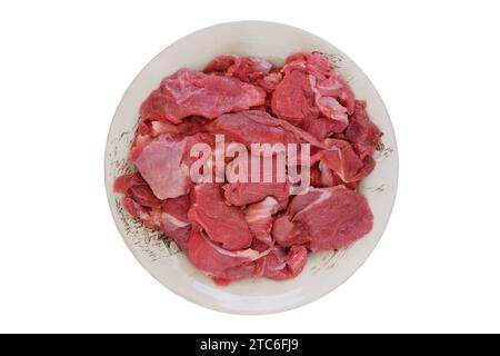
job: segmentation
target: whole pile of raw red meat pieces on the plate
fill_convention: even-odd
[[[343,248],[372,228],[357,187],[374,168],[381,132],[366,106],[320,53],[281,68],[218,57],[163,79],[144,100],[129,157],[137,172],[118,177],[114,190],[218,284],[294,277],[308,253]],[[194,182],[191,148],[214,148],[216,135],[248,148],[309,144],[310,187],[291,195],[290,181]]]

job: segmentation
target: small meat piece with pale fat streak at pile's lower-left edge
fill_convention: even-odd
[[[191,222],[188,219],[190,206],[189,195],[167,199],[161,205],[161,230],[166,236],[172,238],[182,250],[188,247],[191,235]]]

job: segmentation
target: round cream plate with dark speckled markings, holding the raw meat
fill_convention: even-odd
[[[310,254],[304,270],[293,279],[246,279],[216,286],[179,253],[174,244],[131,219],[112,191],[117,176],[130,169],[127,162],[141,102],[161,79],[180,68],[201,69],[223,53],[264,57],[281,65],[289,55],[320,51],[332,59],[358,99],[368,101],[371,119],[383,132],[383,149],[376,154],[377,167],[360,191],[373,210],[372,231],[338,253]],[[106,187],[117,227],[141,265],[162,285],[201,306],[237,314],[288,310],[313,301],[337,288],[368,258],[379,241],[392,210],[398,182],[394,132],[382,99],[367,76],[344,53],[326,40],[286,24],[242,21],[217,24],[191,33],[158,55],[130,85],[114,115],[106,148]],[[367,290],[368,291],[368,290]]]

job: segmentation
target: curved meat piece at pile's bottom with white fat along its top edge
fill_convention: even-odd
[[[257,273],[253,261],[264,257],[269,250],[259,253],[254,249],[230,251],[210,240],[206,233],[193,226],[188,243],[188,258],[199,269],[212,277],[239,279]]]

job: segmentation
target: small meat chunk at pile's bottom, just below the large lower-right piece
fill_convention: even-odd
[[[308,250],[303,246],[274,247],[266,257],[263,276],[281,280],[296,277],[306,266]]]

